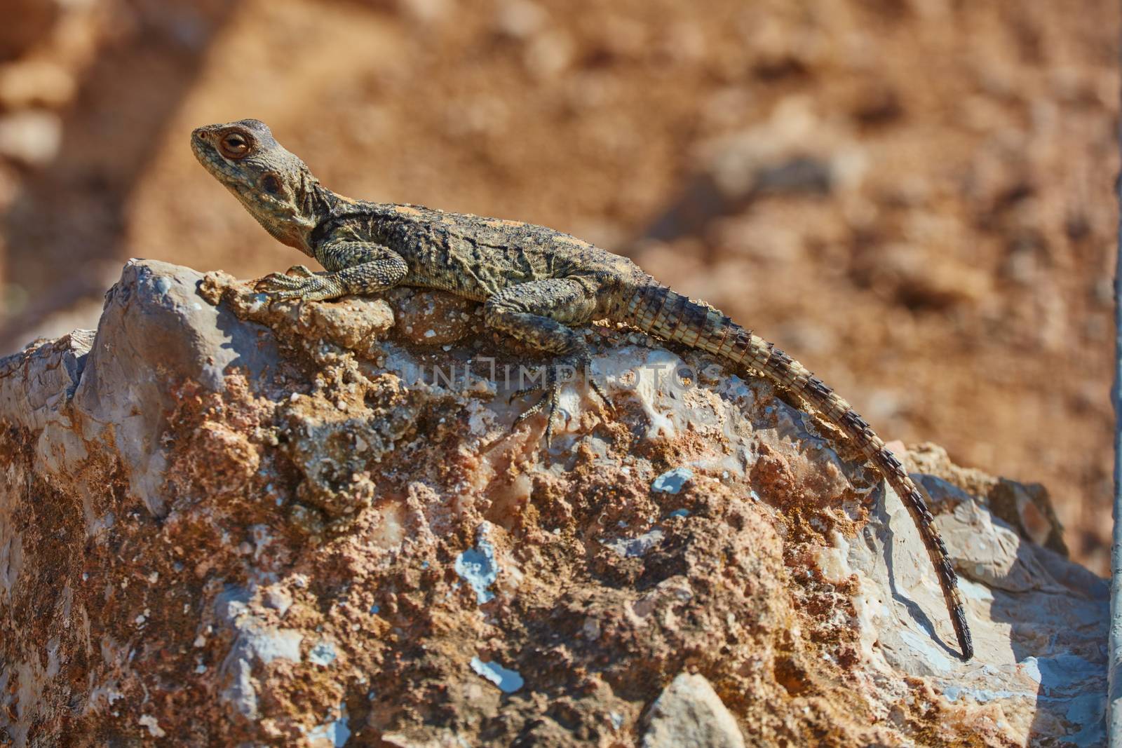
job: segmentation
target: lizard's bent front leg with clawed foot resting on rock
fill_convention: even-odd
[[[302,265],[289,274],[274,273],[257,281],[257,290],[278,301],[318,302],[347,294],[375,294],[393,288],[408,273],[397,252],[362,241],[330,242],[319,248],[315,258],[328,273],[312,273]]]

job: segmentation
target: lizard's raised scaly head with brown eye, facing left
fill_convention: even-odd
[[[208,124],[191,133],[195,158],[278,240],[311,253],[323,187],[258,120]]]

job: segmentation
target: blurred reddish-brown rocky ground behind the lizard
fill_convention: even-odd
[[[889,440],[1110,538],[1113,0],[4,0],[0,352],[128,257],[300,257],[195,163],[255,117],[330,187],[625,252]]]

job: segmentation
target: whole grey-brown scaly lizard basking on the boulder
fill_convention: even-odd
[[[899,459],[868,423],[834,390],[775,344],[735,324],[719,310],[671,289],[632,260],[545,227],[421,205],[352,200],[322,186],[259,120],[196,128],[191,147],[275,239],[322,265],[294,266],[257,283],[270,299],[313,302],[377,294],[398,285],[436,288],[481,302],[485,324],[553,353],[589,376],[585,339],[574,327],[596,320],[629,324],[653,336],[763,373],[834,424],[899,495],[919,528],[958,638],[959,656],[974,655],[958,578],[927,504]],[[542,390],[516,427],[546,410],[546,446],[563,384],[549,367]]]

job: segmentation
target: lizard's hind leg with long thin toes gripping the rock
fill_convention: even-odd
[[[543,390],[542,398],[519,415],[517,426],[530,416],[549,408],[545,422],[545,446],[553,438],[561,386],[565,381],[562,368],[571,367],[583,375],[592,390],[608,404],[599,385],[589,377],[591,358],[585,339],[569,325],[589,322],[596,310],[592,293],[573,278],[546,278],[504,288],[487,299],[484,316],[487,325],[543,351],[555,353],[558,363],[541,371],[541,384],[524,387],[511,396],[513,400],[532,391]]]

